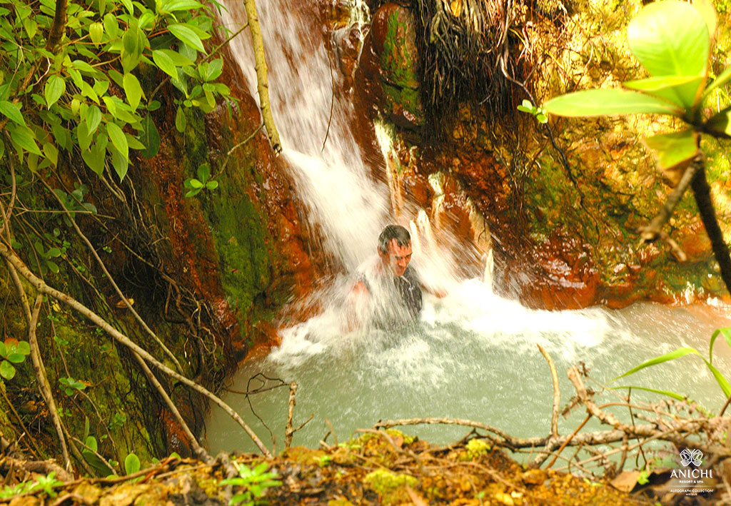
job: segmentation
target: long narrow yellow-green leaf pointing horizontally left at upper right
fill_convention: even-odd
[[[573,117],[635,113],[680,116],[683,113],[680,107],[665,100],[620,88],[576,91],[550,99],[543,107],[549,113]]]

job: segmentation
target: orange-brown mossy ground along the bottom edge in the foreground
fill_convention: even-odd
[[[295,447],[270,461],[282,485],[262,498],[271,505],[651,505],[642,496],[617,491],[605,482],[562,472],[524,469],[501,450],[475,444],[435,447],[414,437],[364,434],[333,448]],[[233,459],[233,457],[232,457]],[[238,456],[254,467],[260,456]],[[166,461],[136,482],[97,480],[70,483],[58,497],[74,494],[87,505],[224,505],[235,488],[218,486],[224,467],[198,461]],[[82,499],[83,498],[83,499]],[[22,500],[21,500],[22,499]],[[12,506],[35,506],[37,496]]]

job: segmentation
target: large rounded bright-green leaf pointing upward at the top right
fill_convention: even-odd
[[[684,1],[645,5],[629,22],[627,42],[650,75],[705,75],[711,49],[708,26]]]

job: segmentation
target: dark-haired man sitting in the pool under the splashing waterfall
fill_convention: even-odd
[[[355,301],[349,304],[347,314],[349,330],[363,320],[378,327],[393,327],[418,319],[422,290],[416,271],[409,265],[411,259],[409,230],[394,224],[385,227],[378,238],[377,259],[360,269],[353,286]]]

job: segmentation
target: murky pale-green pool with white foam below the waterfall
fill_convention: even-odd
[[[338,328],[336,315],[326,311],[282,331],[281,347],[268,357],[246,363],[231,388],[246,390],[255,374],[297,382],[294,425],[312,413],[314,418],[295,434],[295,445],[317,447],[329,431],[325,418],[340,440],[378,420],[418,417],[467,418],[518,437],[545,436],[550,431],[553,387],[537,343],[556,363],[565,403],[575,393],[565,374],[572,363],[586,363],[591,377],[609,382],[632,366],[681,346],[695,347],[705,355],[713,330],[728,324],[726,313],[724,308],[669,308],[651,303],[621,311],[533,311],[496,297],[481,282],[472,280],[458,284],[442,300],[428,297],[419,324],[398,332],[343,335],[333,330]],[[714,363],[728,375],[731,352],[724,342],[718,341],[716,347]],[[255,380],[249,388],[260,385]],[[675,390],[716,411],[724,401],[705,364],[692,356],[611,385]],[[273,430],[280,449],[288,395],[288,388],[279,388],[250,397],[251,406]],[[637,390],[632,396],[662,399]],[[605,399],[610,397],[605,394]],[[271,444],[267,429],[243,396],[230,393],[226,401]],[[583,409],[577,409],[568,420],[561,418],[559,431],[569,433],[585,416]],[[207,428],[213,453],[256,451],[246,434],[219,409],[213,409]],[[449,442],[468,429],[417,426],[404,431],[430,442]],[[332,437],[328,442],[333,442]]]

